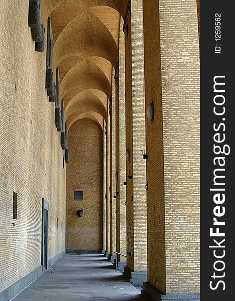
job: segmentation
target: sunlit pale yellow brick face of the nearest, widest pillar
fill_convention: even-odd
[[[159,20],[166,292],[198,292],[200,83],[196,2],[159,1]]]

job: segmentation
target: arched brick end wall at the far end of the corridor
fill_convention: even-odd
[[[70,164],[66,176],[66,249],[103,248],[103,137],[90,119],[74,122],[68,131]],[[73,200],[74,190],[83,200]],[[82,217],[77,210],[83,209]]]

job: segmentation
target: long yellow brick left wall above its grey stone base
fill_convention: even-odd
[[[57,218],[65,224],[64,152],[44,88],[46,48],[34,50],[28,3],[0,1],[0,291],[41,265],[42,198],[49,203],[48,259],[65,248],[65,229],[56,230]],[[41,6],[45,37],[47,17]]]

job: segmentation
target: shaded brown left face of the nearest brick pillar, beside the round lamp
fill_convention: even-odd
[[[146,120],[147,280],[165,292],[164,168],[159,12],[157,1],[143,1],[145,111],[154,103],[154,122]],[[154,37],[154,39],[152,39]],[[154,63],[153,63],[154,62]]]

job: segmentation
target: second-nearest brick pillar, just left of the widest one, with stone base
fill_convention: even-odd
[[[130,17],[131,16],[131,17]],[[146,279],[146,162],[143,74],[142,0],[131,2],[125,35],[125,103],[126,103],[126,225],[127,259],[124,276],[135,285]],[[126,31],[127,32],[127,31]]]

